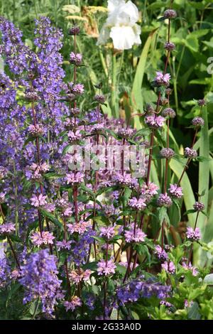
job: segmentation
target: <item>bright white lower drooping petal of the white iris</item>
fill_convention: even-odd
[[[132,48],[133,44],[138,43],[138,35],[129,26],[112,27],[109,36],[117,50],[128,50]]]

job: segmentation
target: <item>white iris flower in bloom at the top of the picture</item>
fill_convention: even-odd
[[[141,44],[141,27],[136,24],[138,9],[131,1],[108,0],[108,18],[100,32],[97,45],[104,45],[112,39],[117,50],[131,49]]]

